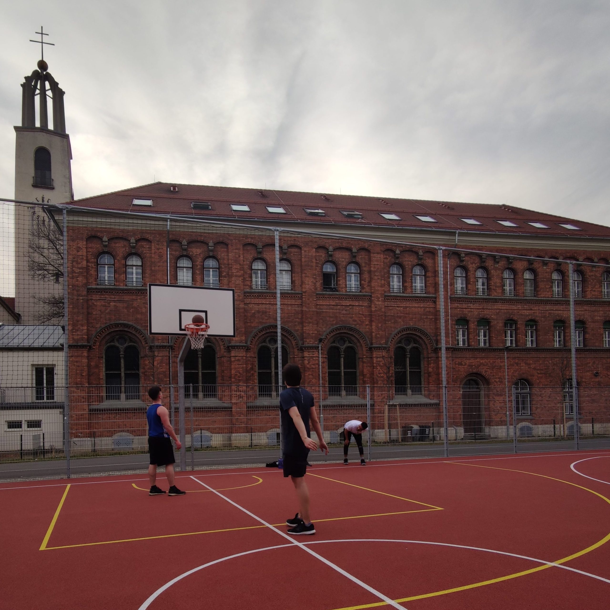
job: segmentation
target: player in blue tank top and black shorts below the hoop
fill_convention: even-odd
[[[151,489],[148,495],[163,495],[162,489],[157,487],[157,466],[165,466],[165,476],[170,484],[168,495],[184,495],[181,489],[174,485],[174,450],[171,447],[171,439],[176,442],[176,449],[182,447],[176,432],[170,423],[170,414],[163,406],[163,393],[159,386],[153,386],[148,390],[148,395],[152,400],[151,406],[146,409],[146,419],[148,420],[148,450],[151,454],[150,465],[148,467],[148,478]]]

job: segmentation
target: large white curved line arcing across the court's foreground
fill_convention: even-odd
[[[291,539],[290,542],[293,542]],[[427,540],[395,540],[395,539],[384,539],[384,538],[350,538],[350,539],[339,539],[339,540],[312,540],[312,542],[303,542],[302,545],[310,545],[310,544],[328,544],[331,542],[400,542],[401,544],[429,544],[437,547],[453,547],[453,548],[465,548],[467,550],[473,551],[484,551],[485,553],[495,553],[498,555],[506,555],[508,557],[516,557],[518,559],[526,559],[528,561],[534,561],[539,564],[550,565],[552,567],[561,568],[562,570],[568,570],[569,572],[576,572],[577,574],[581,574],[583,576],[589,576],[590,578],[595,578],[595,580],[603,581],[604,583],[610,584],[610,580],[607,578],[603,578],[602,576],[597,576],[597,574],[591,574],[590,572],[583,572],[583,570],[576,570],[575,568],[571,568],[568,565],[556,564],[552,561],[545,561],[544,559],[536,559],[533,557],[528,557],[526,555],[518,555],[515,553],[506,553],[506,551],[495,551],[490,548],[482,548],[482,547],[468,547],[461,544],[448,544],[447,542],[428,542]],[[244,555],[249,555],[253,553],[261,553],[262,551],[270,551],[276,548],[288,548],[291,547],[290,544],[280,544],[274,547],[264,547],[264,548],[255,548],[251,551],[244,551],[243,553],[237,553],[234,555],[228,555],[226,557],[221,557],[220,559],[215,559],[214,561],[210,561],[207,564],[199,565],[192,570],[188,570],[188,572],[184,572],[183,574],[176,576],[168,583],[164,584],[162,587],[157,589],[143,604],[138,608],[138,610],[146,610],[149,605],[151,605],[152,601],[156,600],[163,591],[169,589],[173,584],[178,583],[183,578],[194,574],[195,572],[199,572],[199,570],[203,570],[210,565],[219,564],[223,561],[228,561],[229,559],[234,559],[236,557],[243,557]]]

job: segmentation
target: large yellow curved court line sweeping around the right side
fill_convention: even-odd
[[[539,475],[536,472],[527,472],[526,470],[514,470],[513,468],[498,468],[495,466],[483,466],[480,464],[464,464],[464,462],[442,462],[442,463],[457,464],[459,466],[472,466],[473,468],[490,468],[492,470],[506,470],[507,472],[519,472],[524,475],[540,476],[544,479],[551,479],[551,481],[559,481],[559,483],[567,483],[568,485],[572,485],[573,487],[578,487],[579,489],[583,489],[586,492],[594,493],[596,496],[600,497],[602,500],[604,500],[605,502],[610,504],[610,500],[608,498],[606,498],[604,495],[601,495],[601,493],[598,493],[592,489],[589,489],[588,487],[583,487],[576,483],[570,483],[570,481],[564,481],[563,479],[556,479],[556,478],[554,478],[554,476]],[[590,553],[590,551],[593,551],[596,548],[601,547],[601,545],[606,544],[606,542],[608,542],[608,540],[610,540],[610,533],[606,534],[606,536],[604,536],[601,540],[598,540],[594,544],[590,545],[590,547],[584,548],[582,551],[578,551],[577,553],[573,553],[562,559],[558,559],[557,561],[554,561],[553,563],[565,564],[566,562],[571,561],[572,559],[581,557],[584,554]],[[535,568],[531,568],[529,570],[523,570],[523,572],[515,572],[514,574],[500,576],[499,578],[491,578],[490,580],[484,580],[479,583],[465,584],[464,586],[453,587],[452,589],[444,589],[442,591],[434,591],[432,593],[425,593],[422,595],[412,595],[411,597],[402,597],[402,598],[394,600],[394,601],[400,604],[400,603],[404,603],[405,601],[423,600],[428,597],[438,597],[439,595],[446,595],[448,593],[456,593],[458,591],[465,591],[467,589],[476,589],[478,587],[486,586],[487,584],[501,583],[506,580],[512,580],[513,578],[519,578],[519,576],[525,576],[527,574],[533,574],[534,572],[540,572],[540,570],[546,570],[547,568],[551,568],[551,567],[553,567],[553,565],[548,565],[548,564],[538,565]],[[364,610],[365,608],[378,608],[379,606],[387,606],[387,602],[378,601],[376,603],[364,604],[361,606],[348,606],[345,608],[336,608],[335,610]]]

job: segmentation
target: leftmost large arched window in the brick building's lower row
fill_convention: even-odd
[[[140,350],[129,337],[112,339],[104,350],[106,400],[142,400]]]

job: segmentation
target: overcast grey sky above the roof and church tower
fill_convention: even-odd
[[[0,2],[0,196],[43,24],[77,198],[162,180],[610,224],[608,0]]]

